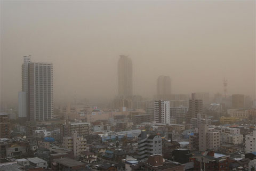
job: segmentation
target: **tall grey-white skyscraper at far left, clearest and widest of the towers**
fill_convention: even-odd
[[[31,121],[51,119],[53,115],[52,63],[31,62],[23,56],[22,92],[19,92],[19,117]]]

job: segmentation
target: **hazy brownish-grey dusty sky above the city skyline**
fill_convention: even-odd
[[[54,101],[117,95],[120,54],[133,92],[255,94],[255,1],[1,1],[1,100],[18,102],[23,55],[52,62]]]

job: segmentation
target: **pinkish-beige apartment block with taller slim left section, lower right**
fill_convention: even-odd
[[[203,119],[198,126],[199,151],[217,150],[220,147],[220,132],[209,128]]]

